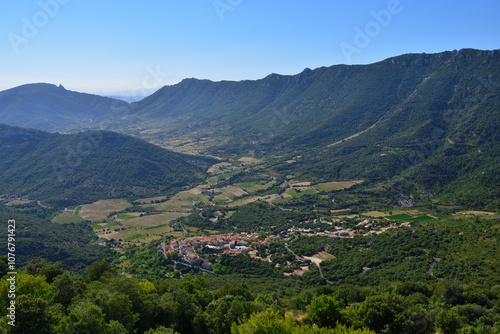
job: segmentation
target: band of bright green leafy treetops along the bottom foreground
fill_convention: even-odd
[[[6,257],[2,272],[7,271]],[[303,289],[292,298],[255,293],[239,280],[214,287],[202,276],[147,281],[117,276],[106,261],[85,275],[34,258],[16,275],[16,326],[2,333],[494,333],[499,285],[387,282]]]

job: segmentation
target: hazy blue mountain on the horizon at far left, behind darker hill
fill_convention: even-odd
[[[0,123],[46,131],[78,129],[127,105],[61,85],[28,84],[0,92]]]

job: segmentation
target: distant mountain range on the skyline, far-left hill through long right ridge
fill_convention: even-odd
[[[0,93],[0,120],[13,110],[3,101],[27,87]],[[499,50],[407,54],[254,81],[185,79],[132,104],[82,94],[75,99],[95,101],[77,103],[86,116],[72,108],[78,93],[45,89],[62,97],[25,92],[31,102],[18,104],[20,114],[37,116],[18,125],[181,139],[214,155],[264,156],[274,170],[313,181],[362,178],[401,194],[499,203]],[[67,118],[46,107],[61,100]]]

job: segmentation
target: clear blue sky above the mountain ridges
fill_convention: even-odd
[[[2,1],[0,90],[48,82],[141,93],[190,77],[259,79],[411,52],[498,49],[499,17],[497,0]]]

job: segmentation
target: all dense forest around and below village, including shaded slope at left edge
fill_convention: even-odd
[[[249,204],[228,225],[264,238],[308,218],[293,211],[279,218],[281,211]],[[152,244],[124,252],[92,245],[88,223],[52,223],[56,212],[2,207],[2,221],[16,220],[20,269],[12,327],[6,316],[12,274],[1,257],[1,333],[486,334],[500,326],[497,219],[424,215],[409,228],[371,236],[303,235],[289,241],[296,255],[276,239],[256,247],[270,262],[222,255],[207,274],[180,269],[174,255],[165,258]],[[210,212],[179,221],[203,224]],[[275,225],[266,223],[272,219]],[[344,224],[356,227],[357,221]],[[4,240],[0,247],[7,248]],[[295,259],[318,252],[331,258],[319,266]],[[303,275],[284,275],[304,263]]]

